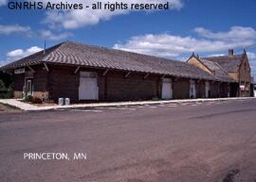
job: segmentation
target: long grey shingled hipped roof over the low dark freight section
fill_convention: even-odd
[[[218,80],[217,77],[187,62],[167,58],[156,58],[71,41],[64,41],[63,43],[48,48],[45,54],[44,51],[41,51],[27,58],[9,63],[1,69],[15,69],[42,62]]]

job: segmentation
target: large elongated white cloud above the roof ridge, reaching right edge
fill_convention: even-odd
[[[256,43],[256,30],[233,26],[227,32],[213,33],[205,28],[195,28],[197,37],[173,34],[147,34],[135,36],[114,48],[166,58],[177,58],[184,53],[215,53],[230,48],[244,48]]]

